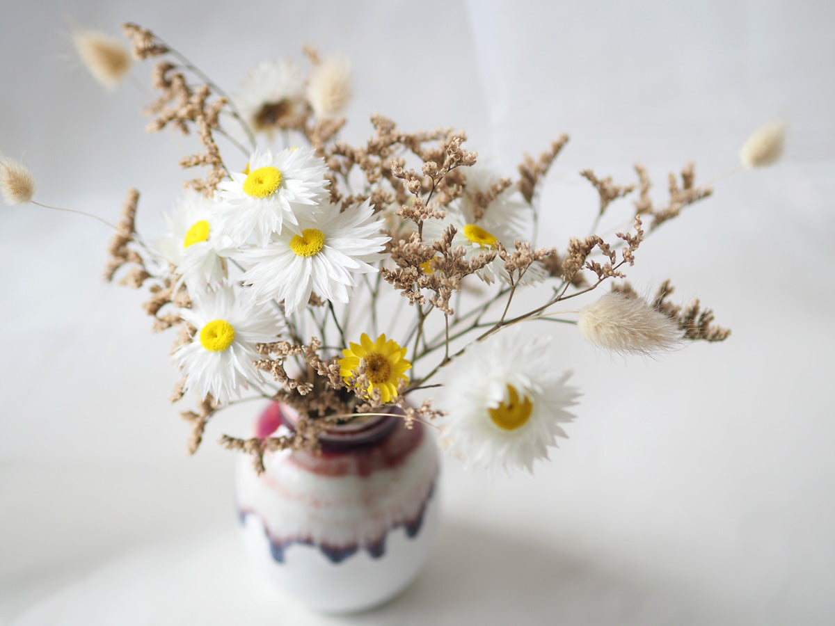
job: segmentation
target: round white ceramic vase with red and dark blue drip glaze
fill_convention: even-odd
[[[256,427],[291,427],[272,405]],[[340,427],[322,452],[274,452],[258,475],[241,457],[245,546],[266,576],[309,608],[347,613],[386,602],[423,568],[438,522],[438,448],[400,416]]]

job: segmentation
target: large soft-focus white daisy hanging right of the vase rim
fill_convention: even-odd
[[[554,371],[550,337],[500,331],[444,366],[438,408],[442,442],[468,467],[524,467],[548,458],[566,407],[579,396],[566,385],[570,371]]]

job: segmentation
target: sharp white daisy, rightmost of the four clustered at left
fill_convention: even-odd
[[[357,275],[372,274],[369,263],[382,258],[388,237],[374,217],[371,203],[340,213],[326,202],[315,219],[300,218],[301,234],[284,231],[269,245],[244,250],[240,259],[250,269],[243,275],[252,285],[256,301],[284,300],[287,315],[307,304],[311,292],[326,300],[347,302],[357,285]]]

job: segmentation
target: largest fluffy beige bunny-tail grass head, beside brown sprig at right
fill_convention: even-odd
[[[670,350],[681,340],[675,321],[641,298],[616,293],[580,310],[578,328],[591,344],[622,353]]]

